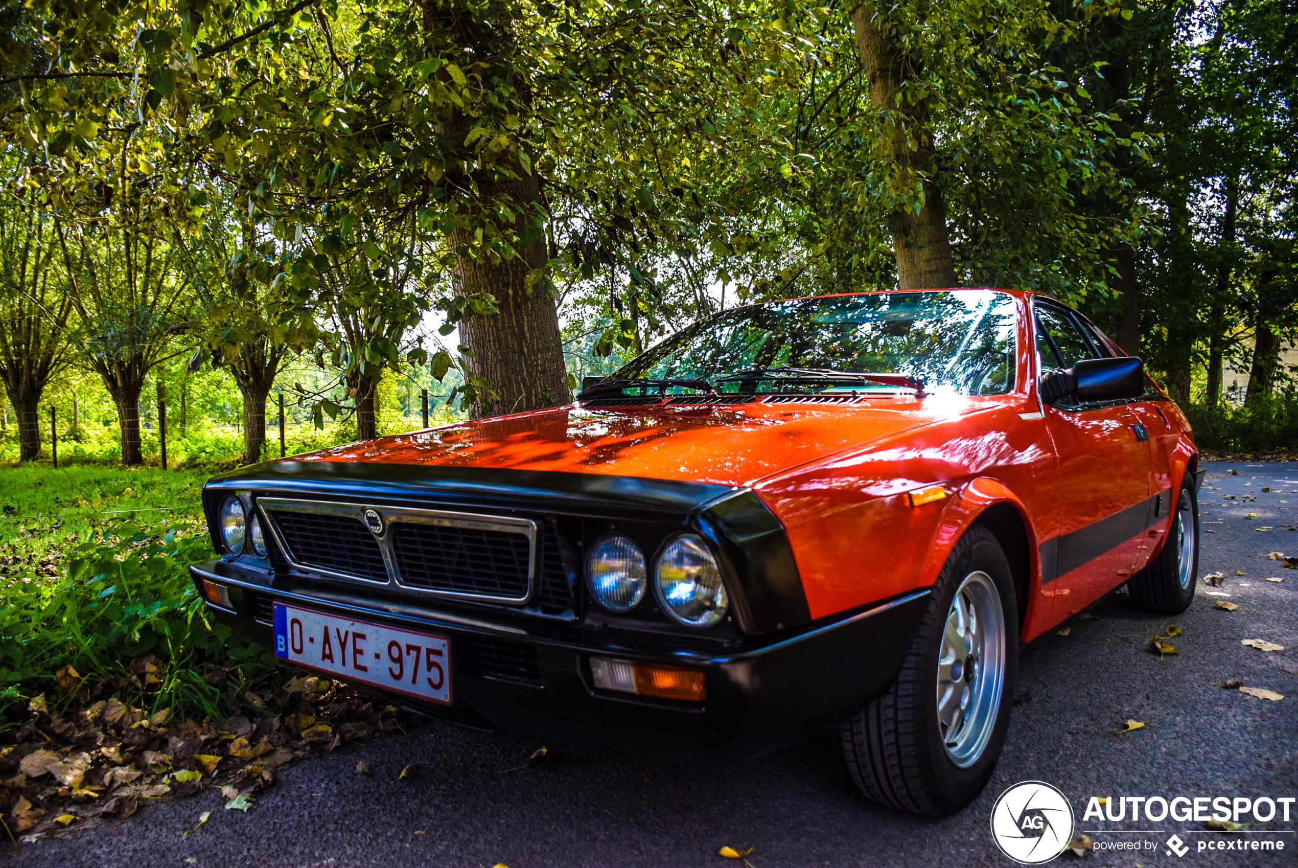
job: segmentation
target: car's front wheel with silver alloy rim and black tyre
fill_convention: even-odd
[[[983,791],[1010,725],[1018,623],[1010,564],[975,525],[946,559],[896,684],[842,728],[866,797],[945,816]]]

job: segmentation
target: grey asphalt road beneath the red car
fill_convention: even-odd
[[[1232,467],[1238,476],[1229,475]],[[1225,501],[1225,494],[1237,500]],[[1254,494],[1256,502],[1243,501]],[[1201,584],[1190,610],[1173,619],[1137,612],[1118,594],[1094,610],[1099,620],[1072,620],[1068,636],[1050,634],[1029,650],[1018,693],[1028,692],[1031,699],[1014,711],[993,782],[945,820],[866,803],[832,736],[704,771],[549,745],[549,766],[501,773],[540,745],[424,723],[406,737],[347,746],[288,768],[247,814],[222,810],[219,794],[208,791],[6,850],[0,865],[663,868],[736,864],[716,855],[727,845],[753,847],[754,868],[999,865],[1011,863],[993,845],[992,806],[1005,788],[1025,780],[1058,786],[1073,806],[1079,830],[1108,830],[1093,833],[1097,841],[1157,845],[1141,852],[1090,852],[1086,863],[1298,864],[1298,806],[1289,823],[1277,815],[1246,826],[1251,834],[1223,836],[1193,821],[1083,819],[1092,795],[1298,795],[1298,571],[1266,557],[1298,554],[1298,532],[1285,529],[1298,524],[1298,464],[1210,464],[1201,501],[1206,533],[1199,573],[1225,572],[1225,584]],[[1249,512],[1255,516],[1246,519]],[[1284,581],[1268,583],[1268,576]],[[1214,609],[1218,599],[1238,609]],[[1185,631],[1172,640],[1180,654],[1159,659],[1145,644],[1168,621]],[[1279,642],[1285,650],[1256,651],[1241,646],[1241,638]],[[1218,686],[1228,679],[1285,699]],[[1146,727],[1115,734],[1128,719]],[[369,776],[356,772],[362,760]],[[409,763],[417,764],[415,773],[395,780]],[[208,810],[210,821],[184,837]],[[1138,832],[1146,829],[1151,832]],[[1163,843],[1173,833],[1190,846],[1184,858]],[[1285,841],[1285,851],[1197,849],[1199,841],[1253,838]],[[1066,852],[1053,864],[1073,860]]]

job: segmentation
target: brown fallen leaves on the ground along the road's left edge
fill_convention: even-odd
[[[130,669],[147,677],[156,666],[136,659]],[[99,698],[112,686],[87,685],[71,667],[56,680],[62,698],[32,697],[30,716],[10,730],[14,743],[0,746],[0,823],[13,836],[61,829],[66,816],[126,819],[148,799],[182,798],[209,782],[227,808],[247,811],[249,795],[274,784],[286,763],[398,730],[406,714],[315,676],[260,690],[251,717],[219,723],[141,708],[121,694]]]

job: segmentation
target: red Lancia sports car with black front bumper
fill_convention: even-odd
[[[452,721],[691,760],[829,728],[929,815],[992,775],[1018,650],[1194,597],[1185,418],[1077,311],[951,289],[736,307],[575,404],[213,479],[208,605]]]

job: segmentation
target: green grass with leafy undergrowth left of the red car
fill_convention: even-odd
[[[190,580],[188,564],[212,557],[199,511],[205,477],[0,468],[0,732],[29,719],[38,694],[77,702],[57,685],[65,666],[97,698],[218,720],[275,673],[263,650],[206,618]],[[132,660],[152,660],[148,677]],[[221,686],[205,677],[217,667],[228,669]]]

